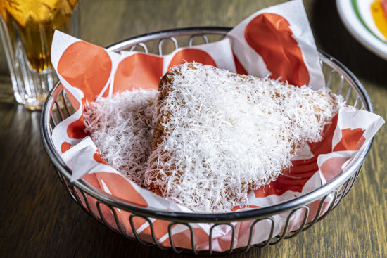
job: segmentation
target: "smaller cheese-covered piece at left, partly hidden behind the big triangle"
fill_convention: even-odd
[[[152,151],[154,105],[158,91],[123,91],[99,98],[84,109],[85,131],[101,157],[128,179],[144,186]]]

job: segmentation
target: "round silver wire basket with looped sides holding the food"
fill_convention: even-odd
[[[146,53],[158,53],[161,55],[165,51],[173,51],[181,46],[192,46],[193,44],[198,44],[198,42],[200,42],[200,44],[207,44],[210,41],[219,40],[224,37],[224,34],[226,34],[230,29],[231,28],[229,27],[192,27],[165,30],[133,37],[117,44],[113,44],[107,49],[109,51],[142,49],[142,51]],[[327,87],[331,88],[335,93],[343,95],[348,105],[353,105],[355,107],[359,106],[358,108],[361,110],[374,112],[367,92],[352,72],[339,63],[338,60],[332,58],[326,53],[323,53],[322,51],[319,51],[319,58]],[[63,186],[65,186],[68,193],[70,193],[72,199],[75,200],[75,202],[77,202],[97,221],[108,226],[113,231],[120,233],[129,239],[137,239],[144,245],[156,245],[162,250],[172,249],[177,253],[183,252],[184,250],[189,250],[190,252],[194,252],[194,254],[199,253],[199,251],[196,250],[195,231],[191,226],[192,224],[203,223],[211,225],[208,239],[208,250],[200,251],[201,254],[203,252],[208,254],[215,253],[212,248],[212,233],[214,228],[220,225],[228,225],[231,229],[231,244],[229,246],[229,250],[227,251],[228,253],[236,250],[246,252],[253,246],[265,247],[267,245],[274,245],[279,243],[282,239],[296,236],[301,231],[305,231],[307,228],[310,228],[317,221],[324,219],[324,217],[326,217],[326,215],[329,214],[332,209],[337,207],[341,200],[343,200],[343,197],[348,193],[348,191],[350,191],[353,183],[355,183],[365,157],[369,153],[369,149],[372,145],[372,141],[369,141],[367,146],[364,146],[364,148],[357,153],[354,160],[350,163],[347,169],[345,169],[345,172],[338,175],[335,179],[332,179],[328,183],[317,188],[315,191],[311,191],[310,193],[294,198],[293,200],[243,212],[230,212],[222,214],[167,212],[165,210],[152,209],[151,207],[141,207],[139,205],[126,202],[125,200],[115,198],[112,195],[91,186],[91,184],[84,181],[84,179],[70,182],[72,171],[65,165],[63,160],[61,160],[60,155],[56,152],[56,149],[53,146],[51,132],[53,128],[56,127],[56,124],[69,117],[73,112],[75,112],[75,110],[72,108],[65,91],[63,91],[63,86],[61,84],[57,84],[49,93],[42,110],[42,141],[44,143],[44,147],[46,148],[46,152],[53,162],[53,165],[56,167],[59,179],[63,183]],[[96,201],[93,204],[88,201],[92,198],[95,198],[94,200]],[[327,200],[326,198],[331,198],[332,200],[329,202],[329,207],[326,209],[326,212],[322,212],[322,206],[324,204],[324,200]],[[95,207],[93,208],[91,205],[95,205]],[[309,216],[310,205],[317,205],[317,212],[314,217],[308,221],[307,217]],[[102,212],[102,207],[104,209],[110,209],[110,212],[112,212],[115,218],[115,226],[110,225],[106,221],[106,217],[104,217],[104,213]],[[115,210],[117,209],[130,213],[130,216],[127,219],[129,220],[130,226],[132,226],[132,234],[128,234],[122,230],[120,221],[117,219],[115,214]],[[291,231],[289,224],[291,224],[292,215],[299,211],[303,211],[302,224],[296,228],[296,230]],[[286,216],[286,224],[283,227],[283,233],[274,236],[273,232],[275,221],[273,216],[277,214],[283,214],[283,216]],[[141,239],[141,236],[135,230],[134,220],[138,218],[141,218],[148,223],[151,231],[151,239]],[[163,221],[168,222],[167,237],[169,238],[170,247],[160,245],[159,240],[156,238],[156,233],[152,224],[155,219],[162,219]],[[267,232],[267,239],[261,243],[253,244],[252,236],[255,226],[263,220],[267,220],[271,223],[271,227]],[[246,238],[248,239],[246,240],[246,245],[244,247],[235,248],[234,222],[237,221],[250,221],[251,224],[250,231],[246,232],[246,234],[248,234],[248,238]],[[182,224],[189,228],[189,232],[191,234],[191,249],[182,249],[175,245],[171,228],[176,224]]]

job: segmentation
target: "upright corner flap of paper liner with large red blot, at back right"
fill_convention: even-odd
[[[325,86],[315,40],[302,1],[288,1],[250,15],[227,34],[248,75],[293,85]]]

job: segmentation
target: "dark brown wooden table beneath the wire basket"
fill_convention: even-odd
[[[100,46],[172,27],[234,26],[281,1],[82,0],[82,39]],[[377,114],[387,115],[387,61],[345,30],[335,1],[304,0],[319,49],[364,84]],[[42,146],[39,112],[13,101],[0,56],[0,257],[187,257],[127,240],[71,200]],[[355,186],[329,217],[296,238],[233,257],[387,257],[386,125]]]

